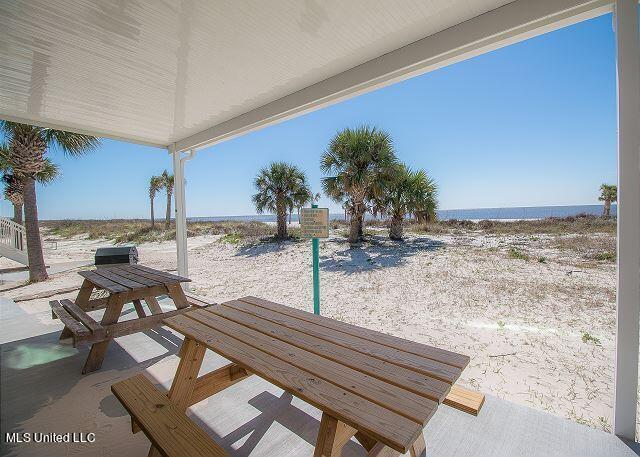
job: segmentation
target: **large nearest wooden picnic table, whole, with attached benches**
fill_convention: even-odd
[[[315,456],[340,455],[355,439],[369,456],[423,455],[423,427],[441,403],[477,414],[484,396],[455,386],[469,357],[407,341],[305,311],[244,297],[165,319],[185,335],[171,389],[164,394],[142,375],[112,391],[142,429],[153,455],[191,454],[210,438],[187,420],[186,410],[255,374],[322,411]],[[205,351],[231,363],[198,377]],[[143,391],[145,398],[127,394]],[[162,405],[151,398],[162,398]],[[170,412],[170,414],[169,414]],[[176,412],[180,413],[177,419]],[[178,423],[178,420],[180,423]],[[172,440],[167,436],[176,436]],[[205,444],[208,443],[208,444]]]

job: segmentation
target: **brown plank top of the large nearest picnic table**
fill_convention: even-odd
[[[255,297],[164,322],[401,452],[469,363],[462,354]]]

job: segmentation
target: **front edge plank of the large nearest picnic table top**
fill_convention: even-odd
[[[319,379],[188,316],[187,313],[184,316],[166,319],[165,324],[201,341],[209,349],[237,365],[400,452],[407,452],[418,433],[422,432],[421,424]]]

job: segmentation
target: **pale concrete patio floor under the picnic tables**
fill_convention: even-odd
[[[142,456],[149,442],[131,433],[111,394],[140,371],[168,388],[181,337],[169,329],[119,338],[102,370],[80,374],[88,349],[58,342],[50,312],[26,313],[0,299],[2,450],[6,456]],[[131,309],[127,310],[131,312]],[[100,313],[96,313],[99,315]],[[207,354],[204,370],[225,360]],[[311,456],[320,412],[253,376],[195,405],[192,417],[233,456]],[[94,443],[6,443],[11,432],[96,433]],[[635,456],[636,444],[585,425],[487,396],[478,417],[441,406],[425,428],[427,456]],[[355,442],[345,456],[364,455]]]

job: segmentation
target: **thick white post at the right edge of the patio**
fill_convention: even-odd
[[[613,431],[635,439],[640,320],[640,43],[637,0],[616,0],[618,297]]]

